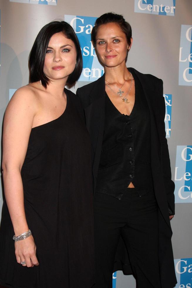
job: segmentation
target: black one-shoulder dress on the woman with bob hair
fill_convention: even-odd
[[[57,119],[32,128],[21,170],[24,205],[39,266],[16,262],[14,230],[4,201],[0,283],[12,288],[90,288],[94,284],[91,148],[83,110],[65,89]],[[25,240],[22,240],[25,241]]]

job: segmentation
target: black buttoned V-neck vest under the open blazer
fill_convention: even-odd
[[[105,95],[105,127],[96,192],[118,199],[129,191],[130,182],[139,196],[153,190],[149,108],[139,79],[134,73],[133,77],[135,103],[129,116],[121,114]]]

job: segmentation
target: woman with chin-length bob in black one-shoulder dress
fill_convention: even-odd
[[[64,21],[44,26],[29,64],[30,84],[16,91],[4,118],[0,284],[90,288],[90,140],[80,101],[64,88],[82,71],[72,27]]]

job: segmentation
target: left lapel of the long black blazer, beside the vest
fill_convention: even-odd
[[[105,123],[105,75],[94,82],[89,94],[89,105],[84,108],[87,130],[94,150],[93,176],[99,167]]]

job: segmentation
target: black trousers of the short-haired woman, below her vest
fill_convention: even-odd
[[[94,222],[94,288],[112,288],[113,264],[120,235],[129,253],[137,288],[161,288],[157,203],[153,191],[139,197],[135,188],[127,188],[121,200],[96,193]]]

